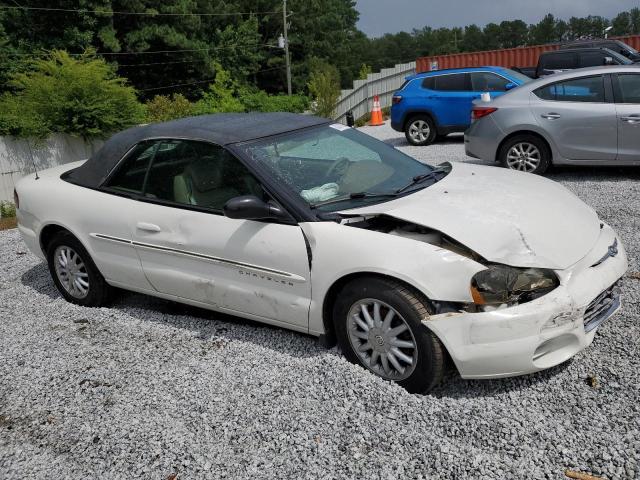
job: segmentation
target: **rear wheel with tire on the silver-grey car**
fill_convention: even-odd
[[[500,148],[498,160],[510,170],[542,175],[551,165],[551,152],[539,137],[517,135]]]

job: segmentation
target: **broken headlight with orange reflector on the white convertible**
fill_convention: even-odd
[[[553,270],[489,265],[471,279],[476,305],[514,305],[541,297],[559,285]]]

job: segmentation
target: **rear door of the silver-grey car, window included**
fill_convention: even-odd
[[[615,160],[616,107],[605,81],[608,75],[591,75],[548,83],[532,92],[533,116],[562,157]]]

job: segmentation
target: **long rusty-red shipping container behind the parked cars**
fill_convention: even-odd
[[[640,50],[640,35],[611,37],[621,40],[627,45]],[[452,55],[436,55],[420,57],[416,60],[416,72],[443,70],[445,68],[465,67],[535,67],[542,52],[557,50],[560,44],[535,45],[531,47],[507,48],[504,50],[488,50],[485,52],[454,53]]]

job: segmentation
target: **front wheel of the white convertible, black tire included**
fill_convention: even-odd
[[[379,307],[375,307],[376,303]],[[390,310],[394,315],[386,325]],[[385,380],[395,381],[410,393],[428,392],[440,383],[444,372],[444,347],[422,324],[428,316],[429,305],[423,295],[394,280],[377,277],[347,284],[333,308],[338,345],[347,360]],[[411,343],[414,348],[408,347]],[[407,357],[412,363],[406,362]],[[404,370],[398,370],[396,364]]]

